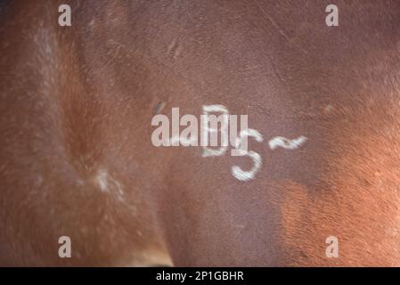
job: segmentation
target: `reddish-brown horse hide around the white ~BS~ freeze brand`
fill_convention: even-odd
[[[399,1],[1,3],[0,265],[400,265]],[[263,135],[253,179],[152,145],[211,104]]]

